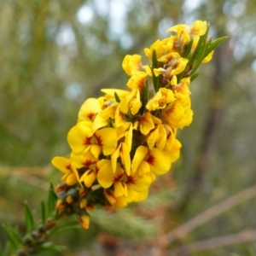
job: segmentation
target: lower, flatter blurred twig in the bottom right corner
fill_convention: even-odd
[[[224,247],[231,244],[255,240],[256,230],[244,230],[237,234],[213,237],[202,241],[196,241],[182,247],[177,247],[168,251],[167,255],[186,256],[190,255],[190,253],[201,252],[211,250],[216,247]]]

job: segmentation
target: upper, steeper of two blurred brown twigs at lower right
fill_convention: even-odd
[[[256,185],[248,189],[242,190],[240,193],[233,195],[227,200],[218,203],[214,207],[207,209],[205,212],[201,212],[194,218],[191,218],[185,224],[182,224],[181,226],[167,233],[165,236],[162,236],[161,240],[163,242],[166,242],[166,245],[170,244],[172,241],[175,241],[180,237],[186,236],[190,231],[195,230],[197,227],[207,223],[207,221],[217,217],[221,213],[230,210],[232,207],[236,207],[244,201],[252,199],[253,196],[256,196]]]

